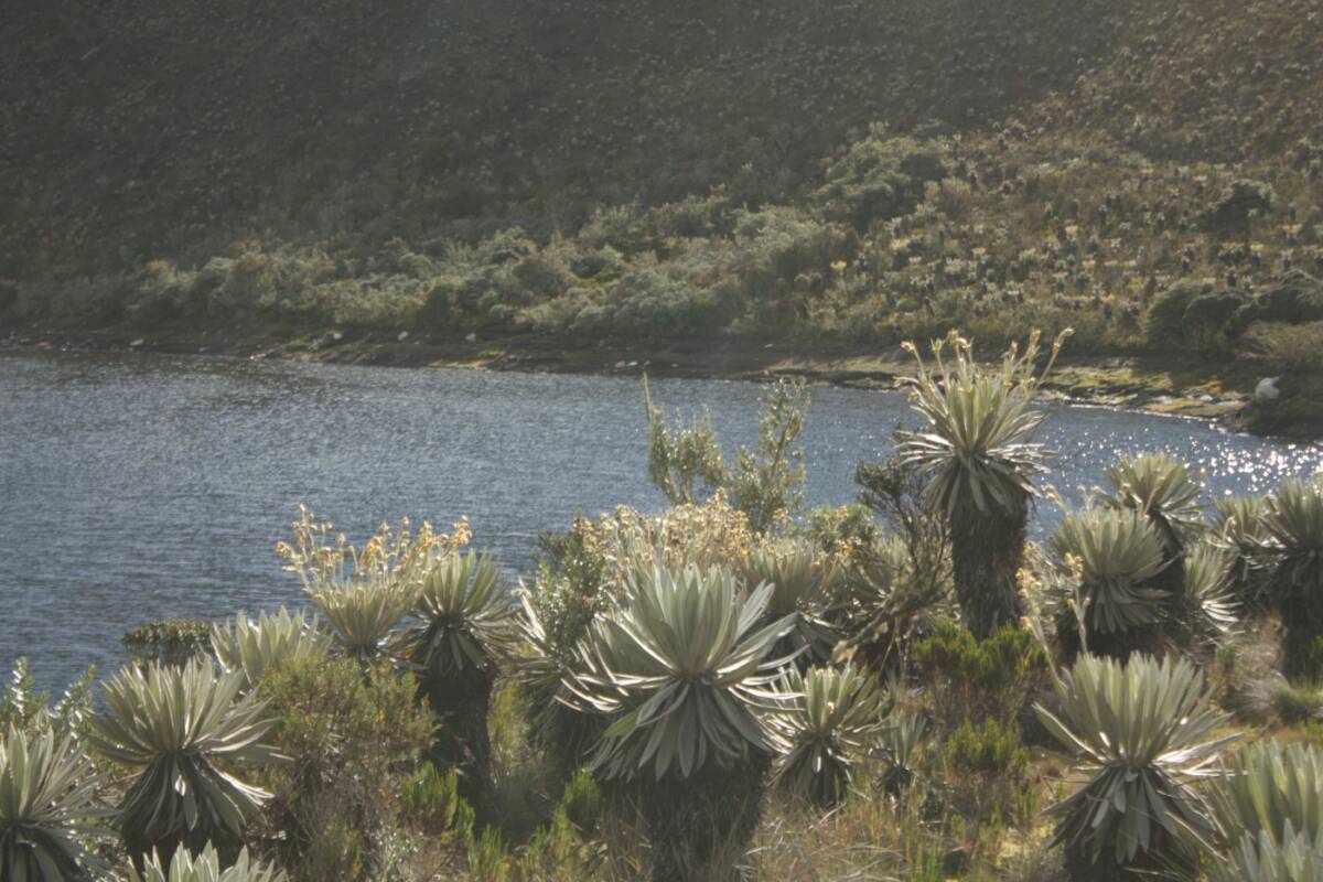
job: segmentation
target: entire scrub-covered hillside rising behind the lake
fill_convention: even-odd
[[[1293,390],[1316,385],[1323,316],[1241,309],[1323,298],[1306,0],[74,3],[7,24],[19,325],[806,353],[1070,325],[1074,356],[1253,378],[1228,394],[1281,376],[1253,419],[1318,422]]]

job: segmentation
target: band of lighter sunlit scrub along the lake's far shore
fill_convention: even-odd
[[[1283,165],[1163,167],[1084,144],[1062,151],[877,130],[824,160],[822,185],[798,204],[778,202],[749,176],[680,202],[603,208],[546,241],[519,227],[433,250],[405,239],[366,253],[254,239],[201,266],[160,259],[124,276],[22,284],[11,311],[99,313],[144,328],[275,323],[860,344],[951,324],[994,341],[1027,324],[1073,324],[1077,348],[1167,350],[1176,335],[1192,353],[1220,353],[1254,320],[1320,317],[1267,309],[1232,329],[1203,309],[1187,325],[1170,305],[1180,291],[1215,294],[1232,308],[1287,276],[1315,286],[1320,161],[1323,152],[1302,148]]]

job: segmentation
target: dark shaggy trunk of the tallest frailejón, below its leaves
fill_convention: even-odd
[[[1012,513],[968,500],[951,513],[951,570],[964,624],[987,640],[1003,624],[1019,625],[1024,615],[1017,575],[1024,563],[1028,500]]]

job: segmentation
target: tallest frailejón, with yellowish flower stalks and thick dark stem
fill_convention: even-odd
[[[955,332],[933,344],[931,365],[905,345],[918,365],[908,380],[912,406],[926,426],[900,432],[897,452],[927,475],[927,502],[950,522],[955,592],[980,640],[1024,612],[1016,577],[1048,458],[1033,442],[1043,414],[1029,405],[1068,335],[1053,341],[1041,372],[1037,332],[1023,352],[1012,345],[999,368],[975,362],[972,344]]]

